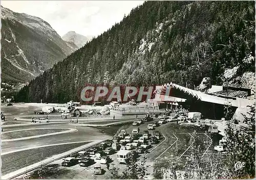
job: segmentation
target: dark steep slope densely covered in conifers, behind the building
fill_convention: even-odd
[[[145,2],[83,48],[35,78],[19,101],[80,100],[86,83],[195,88],[254,72],[254,2]],[[251,55],[252,58],[247,57]]]

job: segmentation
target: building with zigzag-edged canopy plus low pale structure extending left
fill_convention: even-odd
[[[207,93],[202,93],[170,82],[156,86],[155,92],[154,99],[137,105],[113,102],[110,116],[159,114],[170,109],[173,113],[181,110],[196,111],[205,119],[220,120],[224,117],[224,107],[228,105],[234,116],[242,118],[241,113],[247,114],[247,106],[252,106],[255,101],[251,89],[229,86],[212,85]]]

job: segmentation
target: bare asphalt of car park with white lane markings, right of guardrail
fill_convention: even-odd
[[[158,119],[155,119],[151,122],[144,122],[139,126],[132,126],[132,125],[124,125],[121,128],[125,128],[127,133],[131,134],[134,128],[140,129],[140,132],[147,130],[147,125],[152,124],[154,122],[158,122]],[[111,128],[111,126],[109,127]],[[119,129],[120,130],[120,129]],[[201,130],[200,128],[193,126],[193,125],[177,125],[176,122],[169,122],[166,124],[162,124],[159,127],[155,127],[154,130],[158,130],[161,132],[162,136],[160,138],[159,143],[153,144],[150,149],[147,149],[147,152],[144,154],[139,154],[139,157],[136,161],[141,161],[142,156],[145,157],[147,164],[153,164],[155,160],[160,160],[162,158],[168,158],[177,152],[176,155],[181,159],[186,159],[186,156],[191,155],[192,150],[190,149],[190,145],[193,143],[201,143],[201,150],[202,155],[205,153],[210,153],[213,150],[214,143],[211,143],[210,146],[204,146],[204,142],[206,140],[212,139],[210,134],[205,134],[205,131]],[[154,130],[148,130],[150,134],[153,135]],[[197,132],[197,136],[193,137],[193,133]],[[90,149],[85,149],[90,150]],[[117,151],[116,151],[117,152]],[[110,164],[110,169],[113,167],[119,168],[119,173],[125,170],[126,165],[120,164],[117,161],[117,153],[109,155],[112,162]],[[100,164],[100,160],[96,160],[94,156],[91,156],[94,159],[95,164]],[[107,169],[105,164],[101,164],[101,168],[103,169],[102,174],[95,175],[94,174],[94,165],[90,165],[88,167],[81,167],[78,164],[70,166],[70,167],[63,167],[61,166],[63,160],[57,160],[52,162],[49,166],[54,166],[55,168],[59,169],[58,172],[61,174],[54,174],[51,175],[49,173],[46,177],[49,178],[111,178],[112,174]],[[148,167],[148,173],[152,173],[152,167]],[[33,172],[32,172],[33,173]]]

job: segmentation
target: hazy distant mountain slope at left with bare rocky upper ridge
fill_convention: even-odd
[[[2,82],[28,82],[75,49],[48,22],[1,6]]]

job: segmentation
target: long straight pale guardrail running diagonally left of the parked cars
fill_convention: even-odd
[[[26,174],[26,173],[28,173],[28,172],[30,172],[30,171],[33,171],[33,170],[35,170],[35,169],[37,169],[37,168],[40,168],[40,167],[42,167],[42,166],[45,166],[45,165],[47,165],[47,164],[50,164],[50,163],[52,163],[52,162],[54,162],[54,161],[60,160],[60,159],[62,159],[62,158],[66,158],[67,156],[70,156],[71,154],[77,153],[77,152],[79,152],[79,151],[81,151],[81,150],[89,149],[89,148],[91,148],[91,147],[93,147],[93,146],[97,146],[97,145],[99,145],[100,143],[105,142],[105,141],[106,141],[106,140],[102,140],[102,141],[97,142],[97,143],[95,143],[95,144],[92,144],[92,145],[90,145],[90,146],[88,146],[88,147],[80,148],[80,149],[78,149],[78,150],[75,150],[74,152],[71,152],[71,153],[68,153],[68,154],[59,156],[58,158],[55,158],[55,159],[53,159],[53,160],[49,160],[49,161],[47,161],[47,162],[45,162],[45,163],[42,163],[42,164],[40,164],[40,165],[38,165],[38,166],[35,166],[35,167],[33,167],[33,168],[30,168],[30,169],[25,170],[25,171],[20,172],[20,173],[17,173],[17,174],[15,174],[15,175],[11,175],[11,176],[5,177],[5,176],[8,175],[8,174],[6,174],[6,175],[2,176],[1,179],[13,179],[13,178],[15,178],[15,177],[17,177],[17,176]],[[43,160],[43,161],[44,161],[44,160]]]

